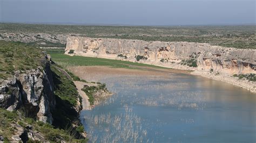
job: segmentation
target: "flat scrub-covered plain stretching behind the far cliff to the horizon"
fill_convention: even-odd
[[[205,42],[234,48],[256,48],[256,26],[85,26],[44,24],[0,24],[0,33],[49,33],[91,38],[138,39],[145,41]],[[0,35],[1,37],[1,35]],[[61,45],[63,47],[65,45]]]

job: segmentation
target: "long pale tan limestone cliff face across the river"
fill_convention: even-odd
[[[141,55],[144,56],[141,60],[143,63],[175,69],[214,71],[228,75],[256,73],[255,49],[225,48],[193,42],[68,37],[65,54],[127,61],[136,61],[135,57]],[[187,64],[193,60],[196,65]]]

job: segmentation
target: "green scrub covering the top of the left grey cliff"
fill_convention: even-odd
[[[44,54],[40,49],[21,42],[0,40],[0,78],[14,75],[16,70],[24,71],[42,66]]]

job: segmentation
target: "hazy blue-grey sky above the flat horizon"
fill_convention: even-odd
[[[255,0],[0,0],[0,22],[99,25],[255,24]]]

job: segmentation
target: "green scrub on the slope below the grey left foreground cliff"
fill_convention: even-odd
[[[71,128],[66,130],[55,128],[54,126],[42,121],[36,121],[32,118],[25,118],[22,111],[10,112],[0,108],[0,134],[4,137],[4,142],[9,142],[8,139],[15,134],[18,123],[23,128],[31,128],[33,131],[38,131],[46,140],[56,142],[58,140],[66,140],[69,142],[86,142],[86,140],[75,139],[75,134],[72,133]],[[28,129],[26,129],[28,130]],[[30,142],[32,140],[28,140]]]

